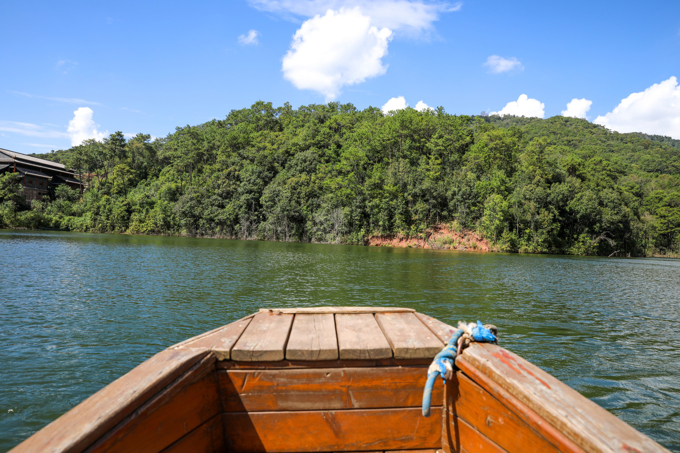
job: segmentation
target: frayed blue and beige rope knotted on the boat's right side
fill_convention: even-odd
[[[498,344],[498,328],[493,324],[481,324],[481,321],[465,324],[458,322],[458,329],[451,336],[427,370],[427,382],[423,391],[423,415],[430,416],[430,403],[432,400],[432,387],[435,386],[437,375],[446,383],[447,379],[454,377],[454,361],[456,356],[467,348],[473,341]]]

